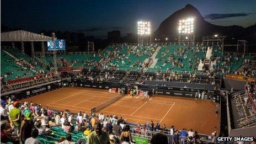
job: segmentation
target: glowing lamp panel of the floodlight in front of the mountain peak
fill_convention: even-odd
[[[190,34],[194,33],[194,18],[187,18],[179,20],[178,26],[179,34]]]

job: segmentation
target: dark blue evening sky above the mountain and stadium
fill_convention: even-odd
[[[217,25],[250,26],[256,23],[256,1],[1,1],[1,24],[39,33],[40,30],[82,32],[106,38],[111,30],[121,35],[135,33],[136,22],[151,20],[159,24],[186,4],[196,7],[208,22]]]

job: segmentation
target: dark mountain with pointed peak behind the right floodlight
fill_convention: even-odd
[[[187,4],[184,8],[174,12],[167,19],[165,19],[158,29],[154,32],[154,38],[161,39],[168,38],[170,41],[178,42],[178,22],[180,19],[193,17],[195,41],[202,41],[202,36],[213,36],[215,34],[227,36],[225,41],[227,43],[234,42],[239,39],[245,39],[249,42],[254,42],[256,39],[256,24],[243,28],[242,26],[219,26],[206,22],[204,17],[191,4]],[[226,43],[225,42],[225,43]]]

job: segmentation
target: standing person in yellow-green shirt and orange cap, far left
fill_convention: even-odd
[[[19,102],[14,102],[13,103],[13,107],[10,111],[9,111],[9,119],[10,122],[13,123],[13,126],[15,127],[15,129],[17,130],[17,134],[20,133],[20,124],[21,124],[21,114],[22,111],[19,110]]]

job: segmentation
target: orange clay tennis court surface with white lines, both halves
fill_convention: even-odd
[[[60,88],[44,94],[21,100],[48,106],[51,109],[68,109],[73,113],[85,111],[90,113],[94,106],[102,104],[118,94],[108,93],[108,90],[91,88]],[[215,116],[216,103],[210,100],[195,100],[192,98],[170,97],[156,95],[151,99],[131,97],[126,95],[117,102],[106,106],[98,113],[118,115],[128,122],[145,124],[159,121],[161,126],[175,129],[193,129],[201,134],[211,134],[218,131],[218,116]]]

